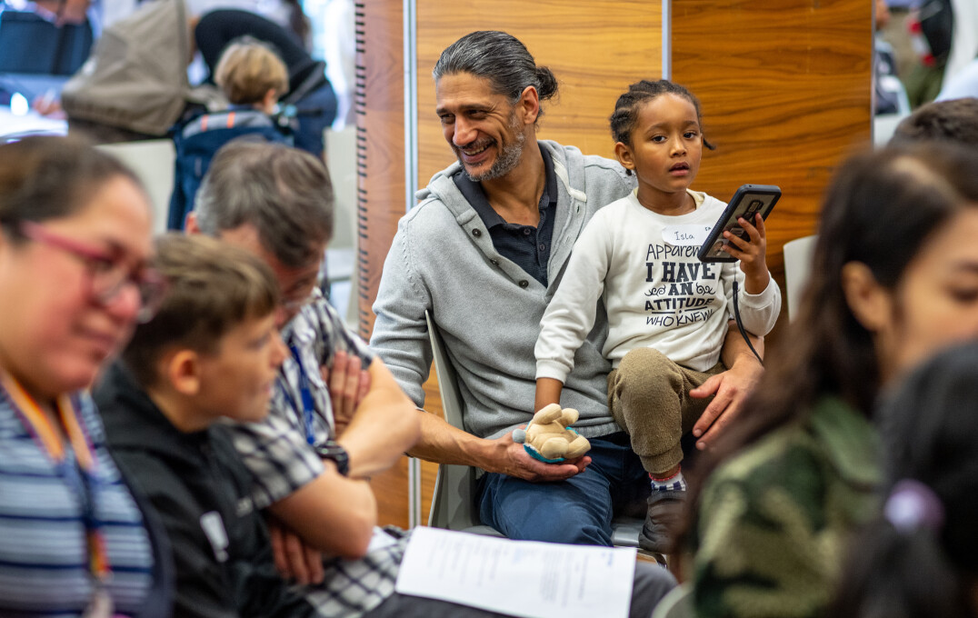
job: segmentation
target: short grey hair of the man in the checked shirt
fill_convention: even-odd
[[[333,236],[333,184],[323,161],[279,144],[232,142],[214,156],[197,195],[208,236],[249,223],[289,268],[322,259]]]

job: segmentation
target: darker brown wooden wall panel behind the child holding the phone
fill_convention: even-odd
[[[872,2],[678,0],[671,40],[672,77],[718,147],[693,186],[724,200],[743,183],[783,192],[768,224],[783,291],[781,246],[814,232],[832,170],[870,143]]]

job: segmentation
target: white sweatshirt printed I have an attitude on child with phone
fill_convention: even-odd
[[[763,335],[774,328],[781,294],[773,278],[761,293],[748,294],[737,262],[703,263],[696,257],[704,231],[727,204],[698,192],[689,195],[696,209],[684,215],[652,212],[634,192],[595,214],[574,244],[540,322],[538,378],[562,382],[574,368],[574,353],[595,323],[599,297],[609,327],[602,353],[612,367],[629,351],[652,347],[689,369],[712,368],[733,316],[734,277],[740,282],[744,329]]]

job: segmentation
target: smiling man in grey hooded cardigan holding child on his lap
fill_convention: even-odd
[[[442,52],[433,75],[436,112],[459,161],[435,174],[398,226],[371,346],[422,406],[430,312],[459,375],[466,430],[422,411],[422,439],[411,454],[485,470],[480,517],[508,537],[610,545],[615,510],[643,501],[649,484],[608,413],[603,306],[561,396],[580,411],[575,428],[591,452],[544,464],[511,433],[533,414],[533,347],[574,242],[598,208],[635,184],[616,161],[537,140],[541,102],[556,95],[556,78],[511,35],[467,34]],[[749,354],[729,336],[724,358],[732,369],[699,389],[716,393],[694,428],[700,448],[733,419],[759,376]]]

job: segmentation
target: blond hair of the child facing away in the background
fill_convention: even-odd
[[[289,92],[289,69],[268,45],[245,38],[221,53],[214,82],[234,105],[252,105],[269,90],[275,90],[276,97]]]

